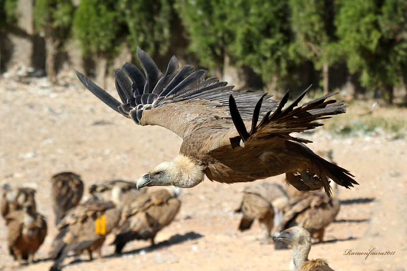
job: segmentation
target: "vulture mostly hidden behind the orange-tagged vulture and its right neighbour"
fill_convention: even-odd
[[[139,191],[135,183],[125,180],[110,180],[92,185],[89,188],[89,193],[101,200],[111,200],[116,204],[116,207],[121,209],[133,202],[139,195],[147,193],[147,190]]]

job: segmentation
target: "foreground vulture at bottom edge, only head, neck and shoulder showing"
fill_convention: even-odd
[[[308,260],[311,250],[311,235],[302,227],[292,227],[273,234],[275,242],[290,245],[294,251],[295,271],[334,271],[323,259]]]

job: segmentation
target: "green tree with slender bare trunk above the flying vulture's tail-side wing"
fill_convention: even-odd
[[[289,6],[295,35],[293,49],[322,71],[324,94],[328,94],[329,67],[338,60],[338,51],[332,48],[336,45],[334,0],[290,0]]]

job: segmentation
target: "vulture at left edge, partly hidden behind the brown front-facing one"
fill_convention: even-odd
[[[9,184],[2,185],[3,197],[1,201],[2,216],[6,217],[14,210],[21,210],[25,203],[30,204],[32,211],[36,211],[35,189],[26,187],[14,187]]]

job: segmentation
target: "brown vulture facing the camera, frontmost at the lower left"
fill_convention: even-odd
[[[23,260],[32,263],[34,254],[47,235],[44,216],[36,213],[34,206],[27,202],[22,210],[10,212],[5,219],[9,230],[10,254],[20,263]]]

